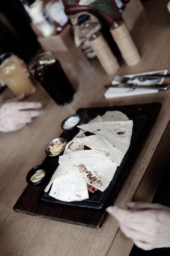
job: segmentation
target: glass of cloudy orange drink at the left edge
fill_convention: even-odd
[[[10,52],[0,56],[0,79],[15,96],[20,96],[23,92],[28,96],[35,92],[20,58]]]

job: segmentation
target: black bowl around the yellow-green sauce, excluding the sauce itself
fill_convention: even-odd
[[[30,179],[31,177],[36,173],[36,171],[38,170],[44,170],[45,171],[45,175],[44,177],[41,178],[41,180],[37,181],[37,182],[32,182]],[[42,186],[44,184],[44,182],[46,181],[47,178],[47,172],[44,168],[44,166],[42,166],[41,164],[34,166],[26,175],[26,182],[32,186],[38,187],[38,186]]]

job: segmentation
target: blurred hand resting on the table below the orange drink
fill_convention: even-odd
[[[22,129],[31,123],[33,117],[43,113],[40,102],[19,102],[24,95],[4,102],[0,107],[0,131],[11,132]]]

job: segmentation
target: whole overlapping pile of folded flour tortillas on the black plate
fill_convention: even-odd
[[[48,192],[51,187],[49,195],[64,202],[88,199],[88,185],[100,191],[109,186],[130,146],[133,121],[122,112],[106,111],[77,127],[81,130],[66,145],[45,188]]]

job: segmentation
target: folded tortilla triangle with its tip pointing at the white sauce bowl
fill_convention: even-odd
[[[125,155],[130,146],[133,121],[98,122],[77,127],[98,135],[119,153]]]

